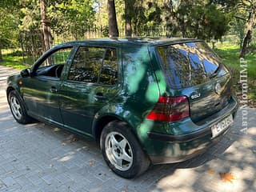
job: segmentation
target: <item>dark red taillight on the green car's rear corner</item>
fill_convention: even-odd
[[[146,118],[162,122],[175,122],[189,116],[190,106],[186,96],[161,96],[155,104],[154,109]]]

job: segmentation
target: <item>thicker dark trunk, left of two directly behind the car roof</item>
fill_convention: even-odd
[[[115,13],[114,0],[107,0],[107,13],[109,16],[109,33],[110,38],[118,37],[118,22]]]

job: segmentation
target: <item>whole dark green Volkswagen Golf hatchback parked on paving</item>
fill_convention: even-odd
[[[17,122],[34,118],[94,138],[124,178],[202,154],[238,109],[229,70],[197,39],[66,42],[7,82]]]

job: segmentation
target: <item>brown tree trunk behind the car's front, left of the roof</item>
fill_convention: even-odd
[[[46,18],[46,0],[40,0],[43,50],[51,47],[50,20]]]

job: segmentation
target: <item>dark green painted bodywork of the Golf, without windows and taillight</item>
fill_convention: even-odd
[[[101,122],[103,118],[105,123],[107,119],[111,121],[119,119],[130,125],[131,131],[134,132],[142,144],[142,148],[150,157],[154,159],[159,156],[174,158],[174,162],[181,161],[186,159],[186,154],[209,146],[213,142],[210,135],[190,142],[169,143],[150,139],[147,133],[179,135],[210,129],[210,125],[214,122],[218,122],[226,114],[235,114],[237,110],[237,102],[232,97],[230,74],[180,90],[174,90],[167,86],[155,47],[193,41],[198,40],[127,38],[67,42],[55,46],[43,54],[31,67],[29,77],[22,78],[20,74],[15,74],[8,78],[8,86],[18,91],[26,103],[28,114],[34,118],[93,138],[98,138],[96,134],[100,133],[98,129],[102,127],[98,122]],[[70,64],[78,46],[116,48],[118,50],[119,74],[117,85],[102,86],[96,83],[68,81]],[[62,70],[61,78],[35,76],[35,69],[42,60],[62,47],[73,47],[73,50]],[[19,80],[22,80],[22,86],[18,85]],[[217,82],[222,85],[223,89],[220,95],[214,93],[214,85]],[[53,86],[57,91],[50,91]],[[190,96],[194,92],[199,92],[202,96],[191,99]],[[98,93],[104,97],[95,98]],[[147,114],[154,108],[160,95],[186,95],[190,102],[190,118],[178,122],[147,120]],[[215,104],[225,101],[228,101],[227,106],[213,107]],[[217,111],[219,112],[217,113]]]

